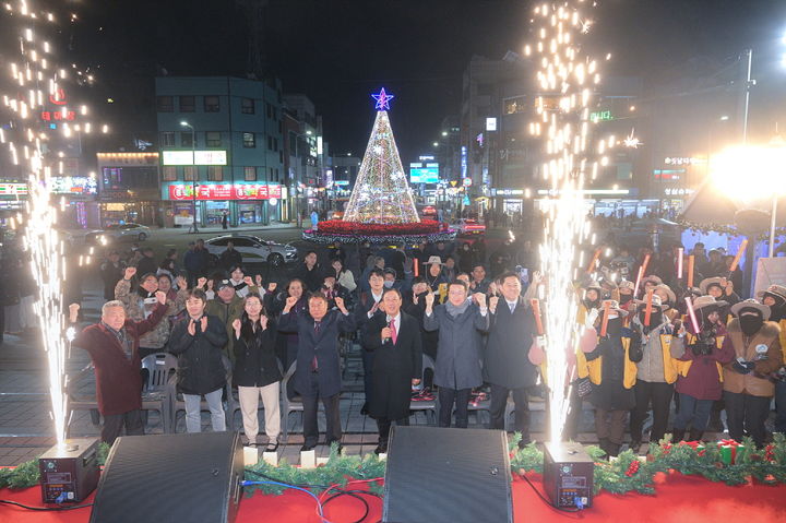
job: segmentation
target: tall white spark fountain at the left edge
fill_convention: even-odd
[[[15,21],[19,61],[5,64],[10,76],[0,82],[3,88],[1,107],[5,112],[3,120],[9,122],[5,131],[0,129],[0,146],[9,153],[11,163],[27,177],[26,213],[20,213],[14,222],[24,228],[24,248],[29,253],[32,276],[37,284],[34,310],[47,354],[51,418],[60,445],[66,440],[68,407],[64,393],[68,341],[63,336],[62,294],[66,253],[56,229],[58,205],[52,203],[52,178],[63,174],[63,162],[62,154],[52,148],[52,143],[57,142],[52,139],[91,132],[91,123],[70,121],[75,114],[86,116],[87,108],[69,107],[63,92],[70,75],[80,84],[90,83],[93,79],[78,71],[75,64],[67,70],[53,63],[53,46],[43,34],[57,28],[55,13],[35,10],[29,2],[19,0],[15,4],[5,3],[2,15]],[[75,21],[76,16],[71,14],[70,23]],[[59,122],[57,126],[49,124],[43,116],[50,100],[57,102],[60,112],[55,117]],[[103,131],[107,132],[106,126]]]

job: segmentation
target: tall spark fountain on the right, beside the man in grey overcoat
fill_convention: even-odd
[[[550,198],[540,207],[546,218],[540,260],[548,281],[540,290],[545,300],[541,310],[551,442],[562,438],[572,356],[583,329],[575,321],[577,298],[573,285],[584,263],[579,245],[590,235],[583,188],[595,179],[598,167],[607,164],[605,154],[616,145],[614,136],[591,145],[594,123],[590,111],[600,74],[597,62],[582,51],[582,39],[592,26],[588,11],[594,5],[582,0],[538,4],[532,16],[537,40],[524,50],[533,57],[536,88],[544,93],[537,99],[537,117],[529,123],[529,133],[543,139],[541,174],[551,189]]]

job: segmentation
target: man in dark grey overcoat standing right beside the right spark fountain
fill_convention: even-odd
[[[491,384],[490,428],[504,430],[508,394],[512,391],[515,429],[522,435],[519,445],[523,447],[531,441],[527,390],[537,382],[537,367],[527,357],[534,317],[521,296],[519,275],[507,272],[499,280],[502,297],[489,299],[491,325],[484,364],[484,380]]]

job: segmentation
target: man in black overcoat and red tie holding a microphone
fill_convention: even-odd
[[[401,293],[386,289],[379,307],[382,314],[373,316],[364,325],[366,346],[376,353],[369,415],[377,420],[380,433],[377,454],[388,452],[393,421],[409,425],[412,385],[420,383],[422,371],[420,325],[401,307]]]

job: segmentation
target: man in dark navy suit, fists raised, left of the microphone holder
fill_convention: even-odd
[[[308,314],[294,317],[289,311],[297,298],[289,296],[278,320],[278,330],[297,331],[298,352],[295,370],[295,390],[303,402],[303,445],[301,451],[317,447],[319,426],[317,425],[317,405],[321,397],[325,409],[327,429],[325,444],[334,441],[341,448],[341,418],[338,395],[341,393],[341,358],[338,356],[338,334],[355,330],[355,319],[344,306],[344,300],[335,298],[338,310],[327,310],[327,299],[321,293],[309,297]]]

